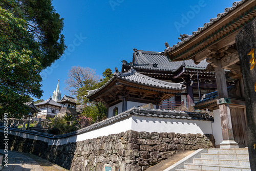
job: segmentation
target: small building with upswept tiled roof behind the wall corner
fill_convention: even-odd
[[[159,109],[162,100],[175,96],[185,90],[182,83],[166,82],[145,76],[131,68],[121,73],[117,69],[114,76],[102,87],[88,91],[91,101],[105,102],[108,107],[108,118],[131,109],[152,103]]]

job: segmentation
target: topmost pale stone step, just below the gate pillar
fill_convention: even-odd
[[[248,148],[211,148],[208,149],[209,154],[240,154],[240,155],[248,155]]]

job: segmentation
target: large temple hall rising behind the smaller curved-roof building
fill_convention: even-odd
[[[127,72],[133,67],[138,73],[152,78],[167,82],[184,82],[186,90],[164,103],[194,104],[201,100],[201,95],[217,89],[215,73],[204,71],[207,65],[206,60],[200,63],[195,63],[192,59],[170,62],[159,52],[134,49],[132,62],[122,61],[122,72]]]

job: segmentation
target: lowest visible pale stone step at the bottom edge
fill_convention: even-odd
[[[218,171],[241,171],[250,170],[250,167],[246,166],[232,166],[232,165],[215,165],[215,164],[184,164],[184,169],[194,169],[194,170],[218,170]],[[183,170],[184,171],[184,170]]]

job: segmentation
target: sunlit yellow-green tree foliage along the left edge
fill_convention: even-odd
[[[39,98],[40,47],[26,31],[26,20],[0,7],[0,115],[28,113],[30,96]]]

